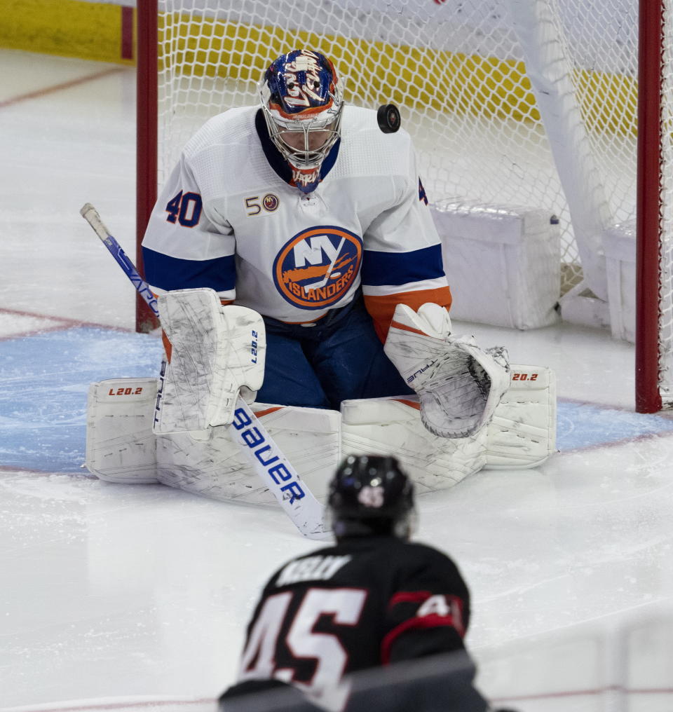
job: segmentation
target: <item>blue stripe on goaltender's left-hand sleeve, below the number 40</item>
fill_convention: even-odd
[[[226,292],[236,287],[234,256],[212,260],[184,260],[142,248],[145,281],[160,289],[192,289],[209,287]]]

